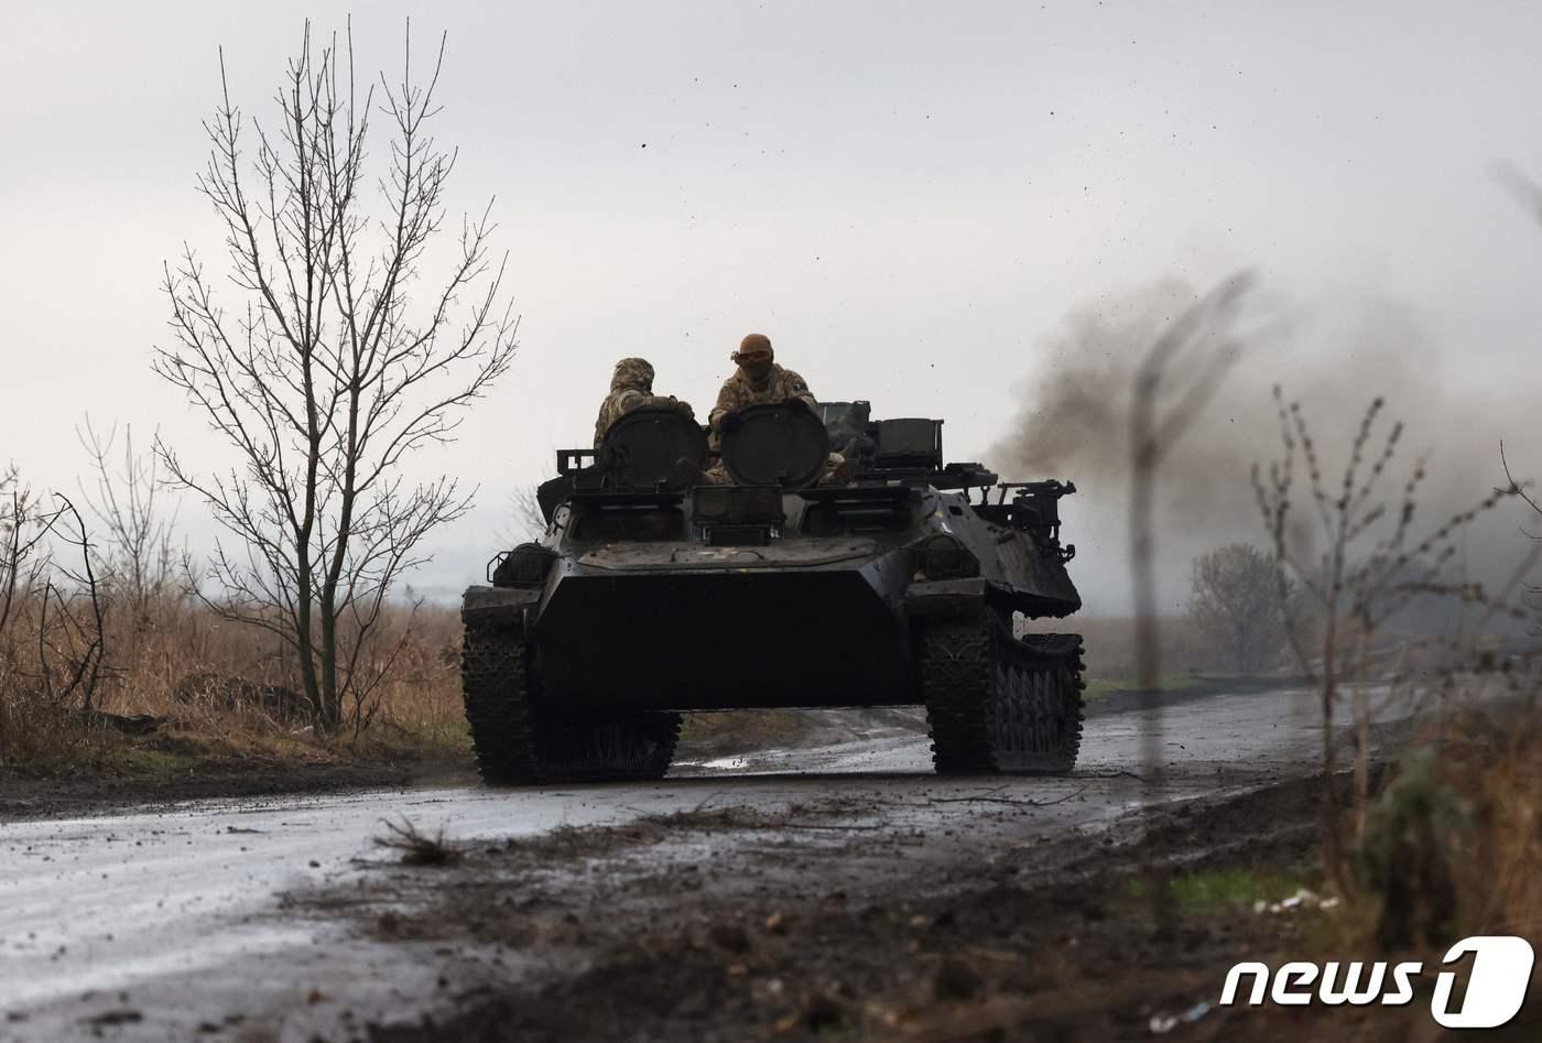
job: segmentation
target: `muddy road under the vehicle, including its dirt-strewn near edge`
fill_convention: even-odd
[[[392,1038],[489,981],[581,974],[588,927],[683,892],[796,904],[945,887],[961,862],[1010,855],[1022,870],[1049,846],[1095,850],[1143,801],[1241,792],[1315,756],[1306,693],[1217,696],[1164,721],[1160,790],[1132,775],[1150,711],[1129,711],[1090,717],[1061,779],[939,779],[924,736],[888,734],[682,765],[649,785],[0,824],[0,1038]],[[404,816],[476,858],[399,866],[372,838]],[[513,924],[483,907],[530,912]]]

